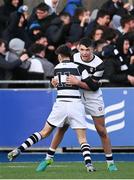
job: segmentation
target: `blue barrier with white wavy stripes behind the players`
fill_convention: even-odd
[[[114,147],[134,146],[134,88],[103,88],[106,127]],[[54,89],[0,90],[0,147],[20,145],[29,135],[41,130],[55,101]],[[101,147],[90,116],[87,116],[88,142]],[[53,134],[34,145],[48,147]],[[61,147],[79,147],[75,132],[69,129]]]

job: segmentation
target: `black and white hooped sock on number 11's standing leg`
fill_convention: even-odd
[[[81,144],[81,151],[84,157],[85,165],[92,164],[91,163],[91,153],[90,153],[90,145],[87,143]]]

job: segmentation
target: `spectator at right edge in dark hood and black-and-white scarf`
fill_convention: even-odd
[[[130,51],[130,42],[127,37],[118,39],[113,53],[113,57],[106,60],[104,71],[104,76],[110,80],[110,86],[134,86],[134,76],[130,71],[130,68],[134,66],[131,62],[133,52]]]

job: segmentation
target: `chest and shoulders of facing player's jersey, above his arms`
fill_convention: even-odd
[[[94,55],[93,59],[89,62],[82,61],[80,57],[80,53],[74,54],[74,62],[83,66],[89,73],[89,76],[92,79],[99,81],[104,73],[104,63],[103,61],[96,55]]]

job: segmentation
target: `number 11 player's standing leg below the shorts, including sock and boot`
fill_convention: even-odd
[[[79,144],[81,146],[81,151],[83,154],[85,166],[88,172],[96,171],[92,165],[90,145],[87,143],[86,129],[75,129],[78,137]]]

